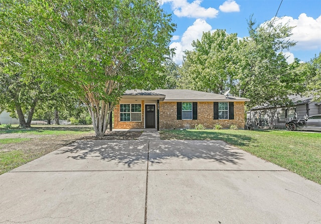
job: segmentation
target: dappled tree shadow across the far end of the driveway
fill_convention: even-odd
[[[237,164],[243,151],[223,141],[209,140],[95,140],[77,141],[56,151],[68,159],[102,160],[119,163],[128,168],[144,164],[167,163],[171,159],[198,159],[221,164]]]

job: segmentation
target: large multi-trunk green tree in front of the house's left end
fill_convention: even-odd
[[[153,88],[175,25],[156,0],[3,0],[1,26],[25,38],[47,77],[88,107],[97,136],[127,89]]]

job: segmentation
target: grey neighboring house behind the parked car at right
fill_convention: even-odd
[[[313,97],[289,96],[291,106],[256,106],[247,112],[248,128],[269,127],[285,128],[285,122],[303,119],[307,116],[321,114],[321,102],[314,102]]]

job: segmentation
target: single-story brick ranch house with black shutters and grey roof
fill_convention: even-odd
[[[194,90],[128,90],[114,109],[114,128],[243,128],[246,101],[250,100]]]

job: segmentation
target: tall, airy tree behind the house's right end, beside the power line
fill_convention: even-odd
[[[286,103],[289,94],[297,93],[292,87],[299,81],[293,79],[297,63],[290,66],[282,54],[295,45],[289,39],[292,27],[266,23],[255,28],[252,18],[248,25],[249,37],[239,43],[234,91],[241,91],[242,96],[250,98],[249,106]]]

